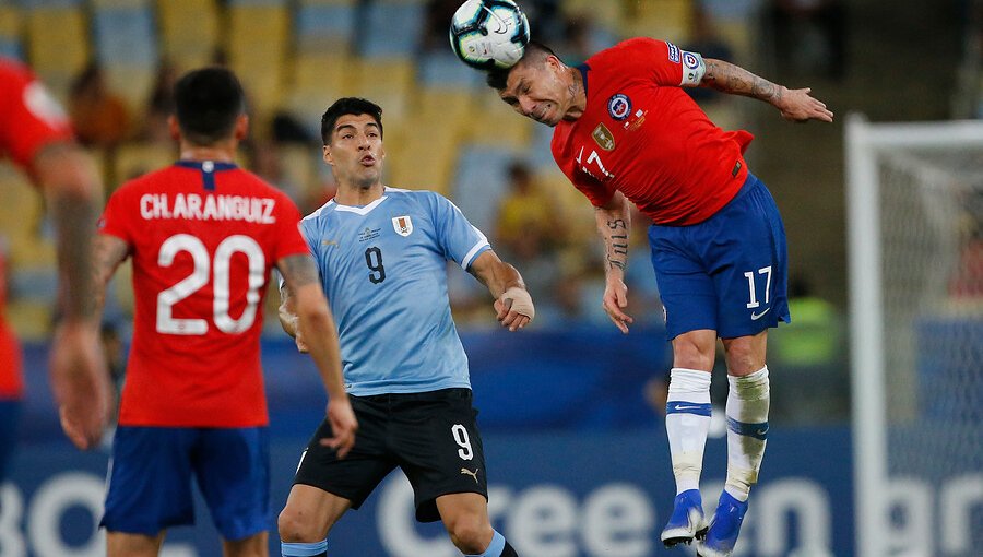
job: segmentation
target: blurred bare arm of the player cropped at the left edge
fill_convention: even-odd
[[[66,435],[80,449],[90,449],[98,443],[112,411],[93,296],[98,173],[72,143],[47,145],[35,156],[33,167],[58,228],[61,319],[51,344],[51,389]]]

